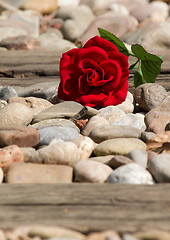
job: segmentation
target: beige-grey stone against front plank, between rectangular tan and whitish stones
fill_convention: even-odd
[[[81,160],[74,166],[76,181],[104,183],[113,170],[100,162]]]

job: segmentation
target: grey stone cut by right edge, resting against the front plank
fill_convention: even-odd
[[[170,182],[170,154],[158,154],[149,161],[148,170],[157,182]]]

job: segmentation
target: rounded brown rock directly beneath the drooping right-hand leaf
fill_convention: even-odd
[[[157,83],[145,83],[134,91],[134,97],[137,103],[145,110],[150,111],[157,107],[162,100],[168,96],[164,87]]]

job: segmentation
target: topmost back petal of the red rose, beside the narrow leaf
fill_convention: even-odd
[[[113,43],[99,36],[95,36],[90,40],[88,40],[83,48],[90,48],[92,46],[97,46],[99,48],[102,48],[106,52],[109,52],[109,51],[119,52],[117,47]]]

